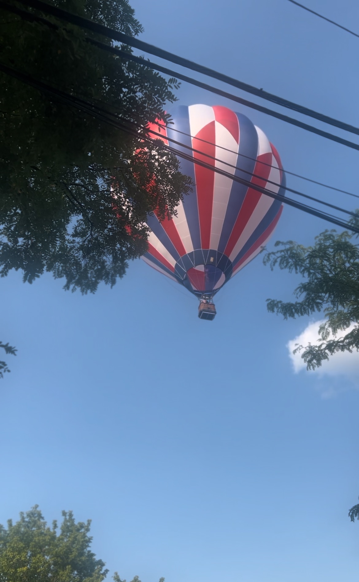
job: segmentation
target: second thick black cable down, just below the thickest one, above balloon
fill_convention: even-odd
[[[39,3],[40,0],[28,0],[28,2],[27,2],[27,0],[19,0],[19,2],[22,2],[25,4],[27,4],[28,2],[31,2],[31,4],[32,4],[32,3]],[[45,3],[40,2],[40,4],[42,5]],[[7,9],[6,6],[8,6],[8,5],[6,5],[5,2],[2,2],[2,1],[0,2],[0,7]],[[45,4],[45,6],[49,6],[49,5]],[[54,9],[56,11],[60,10],[60,9],[56,8],[55,6],[49,6],[49,8]],[[15,12],[14,10],[11,10],[11,11]],[[16,13],[19,15],[19,12],[20,12],[20,10],[17,10]],[[64,12],[64,10],[60,10],[60,12]],[[102,27],[102,28],[106,29],[106,27],[103,27],[101,24],[93,23],[91,20],[81,19],[80,16],[77,17],[77,16],[71,15],[70,13],[67,13],[67,12],[66,12],[66,14],[69,14],[71,17],[73,16],[75,20],[77,20],[77,19],[80,19],[81,21],[84,20],[85,23],[94,24],[96,27]],[[42,19],[42,20],[44,20],[44,19]],[[69,20],[69,19],[67,19],[67,20]],[[70,20],[69,20],[69,22],[70,22]],[[77,22],[74,22],[74,23],[76,24]],[[106,29],[106,30],[112,30],[112,29]],[[113,33],[116,33],[116,35],[123,34],[123,33],[117,33],[117,31],[113,31]],[[102,33],[102,34],[105,34],[105,33]],[[133,37],[128,37],[128,38],[131,39]],[[354,150],[359,151],[359,144],[356,144],[353,141],[349,141],[349,140],[343,139],[342,137],[335,136],[332,133],[325,132],[321,129],[318,129],[317,127],[314,127],[312,125],[308,125],[307,123],[301,122],[298,119],[291,118],[288,115],[283,115],[283,113],[273,111],[272,109],[268,109],[267,107],[263,107],[262,105],[258,105],[256,103],[253,103],[252,101],[242,99],[241,97],[237,97],[236,95],[233,95],[231,93],[227,93],[227,91],[223,91],[223,90],[218,89],[216,87],[212,87],[211,85],[209,85],[207,83],[202,83],[202,81],[192,79],[192,77],[188,77],[182,73],[178,73],[176,71],[173,71],[173,70],[168,69],[166,67],[163,67],[161,65],[157,65],[156,63],[147,61],[139,56],[133,55],[129,52],[123,51],[123,50],[118,49],[116,47],[111,47],[110,45],[104,44],[103,42],[96,41],[92,38],[86,38],[86,40],[88,42],[91,42],[91,44],[94,44],[97,47],[99,47],[107,52],[111,52],[112,54],[116,54],[117,56],[120,56],[122,58],[137,62],[139,65],[148,66],[151,69],[157,70],[157,71],[164,73],[164,74],[168,74],[171,77],[176,77],[177,79],[181,79],[182,81],[185,81],[186,83],[191,83],[192,85],[195,85],[196,87],[200,87],[206,91],[210,91],[211,93],[221,95],[221,97],[225,97],[231,101],[235,101],[237,103],[240,103],[241,105],[245,105],[246,107],[256,109],[256,111],[260,111],[261,113],[265,113],[266,115],[271,115],[272,117],[277,118],[277,119],[281,119],[282,121],[285,121],[286,123],[290,123],[291,125],[295,125],[296,127],[301,127],[301,129],[304,129],[308,132],[315,133],[318,136],[325,137],[326,139],[329,139],[331,141],[336,141],[337,143],[340,143],[342,145],[346,145],[347,147],[350,147]],[[137,41],[137,39],[134,39],[134,40]],[[142,41],[137,41],[137,42],[142,42]],[[161,49],[159,49],[159,51],[160,50]],[[220,73],[218,73],[218,74],[220,74]],[[238,81],[238,83],[239,83],[239,81]],[[341,123],[341,122],[338,122],[338,123]],[[358,128],[353,128],[353,129],[356,129],[359,132]],[[353,133],[356,133],[356,132],[353,132]]]

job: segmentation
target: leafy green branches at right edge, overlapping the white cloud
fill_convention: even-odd
[[[358,227],[359,211],[356,214],[351,223]],[[324,311],[326,320],[318,329],[320,343],[295,350],[303,350],[301,357],[308,370],[319,367],[336,352],[359,349],[359,246],[353,238],[348,230],[339,234],[325,230],[313,246],[278,241],[275,246],[282,248],[264,257],[264,264],[270,264],[271,269],[278,266],[305,279],[294,290],[300,300],[267,299],[268,311],[285,319]]]

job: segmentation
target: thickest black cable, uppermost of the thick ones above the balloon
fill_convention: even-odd
[[[93,22],[92,20],[88,20],[82,16],[74,15],[66,10],[62,10],[57,6],[49,5],[46,2],[42,2],[42,0],[18,0],[21,4],[41,10],[42,12],[51,14],[52,16],[58,17],[66,22],[70,22],[72,24],[76,24],[77,26],[81,26],[82,28],[92,30],[95,33],[102,34],[102,36],[106,36],[107,38],[111,38],[112,40],[119,41],[125,45],[130,45],[131,47],[138,48],[141,51],[148,52],[149,54],[159,56],[166,61],[170,61],[176,63],[177,65],[183,66],[187,69],[195,70],[198,73],[205,74],[213,79],[217,79],[222,81],[223,83],[227,83],[232,85],[236,88],[239,88],[247,93],[251,93],[253,95],[257,95],[262,99],[267,101],[271,101],[272,103],[276,103],[277,105],[281,105],[282,107],[286,107],[288,109],[292,109],[293,111],[297,111],[302,113],[303,115],[310,116],[312,118],[318,119],[321,122],[328,123],[329,125],[333,125],[335,127],[339,127],[339,129],[343,129],[344,131],[355,133],[359,135],[359,128],[350,125],[349,123],[344,123],[339,121],[338,119],[334,119],[328,115],[323,115],[322,113],[318,113],[313,109],[309,109],[307,107],[303,107],[302,105],[296,104],[292,101],[288,101],[277,95],[273,95],[271,93],[267,93],[267,91],[263,91],[262,89],[258,89],[257,87],[253,87],[247,83],[243,83],[242,81],[238,81],[233,77],[229,77],[223,73],[205,67],[203,65],[198,65],[193,61],[189,61],[189,59],[185,59],[181,56],[175,55],[172,52],[164,51],[161,48],[155,47],[148,42],[144,42],[139,40],[138,38],[129,36],[128,34],[121,33],[118,30],[110,29],[103,24],[99,24]]]

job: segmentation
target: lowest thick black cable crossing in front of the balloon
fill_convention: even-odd
[[[74,95],[64,93],[63,91],[60,91],[60,90],[55,89],[51,86],[48,86],[45,83],[42,83],[41,81],[34,80],[31,77],[29,77],[28,75],[21,73],[19,71],[16,71],[15,69],[11,69],[5,65],[0,65],[0,70],[2,70],[2,72],[6,73],[6,74],[9,74],[12,77],[15,77],[16,79],[18,79],[20,81],[23,81],[26,84],[29,84],[30,86],[33,86],[34,88],[37,88],[37,90],[41,91],[42,93],[50,94],[52,97],[57,98],[61,102],[64,102],[66,104],[70,104],[72,107],[81,109],[85,113],[89,113],[89,115],[92,115],[93,117],[98,118],[98,119],[102,120],[103,122],[109,123],[109,125],[117,127],[117,129],[121,129],[123,132],[130,134],[131,136],[136,137],[137,139],[141,139],[141,141],[143,141],[143,142],[147,142],[147,143],[152,142],[153,143],[153,140],[151,140],[148,136],[146,136],[145,134],[142,135],[141,133],[139,133],[139,129],[141,129],[141,128],[138,128],[138,127],[136,128],[134,123],[130,122],[131,125],[126,126],[126,125],[124,125],[124,123],[121,123],[119,120],[112,119],[111,117],[109,117],[108,112],[106,112],[104,110],[99,110],[99,108],[97,108],[95,105],[93,105],[89,102],[86,102],[78,97],[75,97]],[[126,123],[129,123],[129,122],[126,121]],[[179,145],[183,146],[184,144],[179,144]],[[174,153],[175,155],[177,155],[177,157],[184,158],[184,159],[186,159],[194,164],[203,166],[204,168],[207,168],[210,171],[220,173],[221,175],[226,176],[227,178],[231,179],[232,181],[239,182],[240,184],[244,184],[245,186],[250,187],[253,190],[257,190],[262,194],[270,196],[274,200],[279,200],[282,203],[288,204],[288,205],[295,207],[299,210],[303,210],[304,212],[307,212],[308,214],[314,215],[318,218],[322,218],[328,222],[332,222],[333,224],[341,226],[342,228],[348,228],[348,229],[352,230],[353,232],[359,233],[359,228],[357,228],[356,226],[354,226],[348,222],[344,222],[344,221],[342,221],[342,219],[339,219],[331,214],[328,214],[327,212],[319,211],[313,207],[308,206],[307,204],[297,202],[295,200],[292,200],[291,198],[282,196],[280,194],[275,194],[274,192],[272,192],[268,189],[257,186],[257,184],[252,184],[249,180],[245,180],[243,178],[240,178],[239,176],[233,176],[232,174],[225,172],[224,170],[222,170],[220,168],[214,168],[213,165],[207,164],[206,162],[204,162],[202,160],[195,159],[195,158],[193,158],[193,155],[185,154],[185,152],[176,150],[173,147],[167,146],[165,144],[163,144],[163,147],[165,150],[170,151],[170,152]],[[200,152],[200,153],[202,153],[202,152]]]

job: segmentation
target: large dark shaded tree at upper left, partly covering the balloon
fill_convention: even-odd
[[[50,2],[126,34],[142,31],[127,0]],[[70,101],[0,72],[0,275],[20,269],[31,283],[48,271],[66,289],[95,292],[145,252],[146,214],[173,214],[190,190],[177,158],[139,132],[168,119],[164,105],[178,83],[89,42],[111,45],[106,38],[9,4],[22,13],[0,10],[0,66]],[[71,97],[117,115],[132,133]]]

